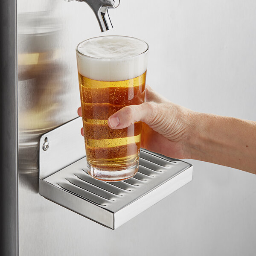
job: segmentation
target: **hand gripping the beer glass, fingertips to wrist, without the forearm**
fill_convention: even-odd
[[[169,102],[148,85],[145,103],[122,108],[108,119],[112,129],[122,129],[142,121],[141,147],[173,158],[187,158],[186,140],[192,127],[189,109]],[[78,109],[81,116],[81,108]],[[83,129],[81,134],[84,135]]]

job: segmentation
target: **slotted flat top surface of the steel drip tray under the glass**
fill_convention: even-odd
[[[188,163],[162,158],[145,150],[140,152],[139,171],[128,180],[118,182],[95,180],[87,174],[86,166],[86,157],[84,157],[50,175],[44,181],[113,214],[125,209],[190,167]]]

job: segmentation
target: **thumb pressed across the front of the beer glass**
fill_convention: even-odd
[[[155,115],[157,113],[154,102],[126,106],[108,118],[108,126],[112,129],[122,129],[138,121],[150,125]]]

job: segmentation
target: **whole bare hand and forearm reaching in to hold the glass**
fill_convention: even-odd
[[[81,116],[81,108],[78,113]],[[137,121],[143,122],[142,148],[256,174],[256,122],[191,111],[169,102],[149,86],[145,103],[120,109],[109,117],[108,126],[122,129]]]

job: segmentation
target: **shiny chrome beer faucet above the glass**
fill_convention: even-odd
[[[68,0],[68,2],[73,0]],[[78,2],[87,3],[93,10],[99,22],[102,32],[112,29],[112,23],[108,15],[109,8],[116,8],[119,6],[120,0],[76,0]]]

